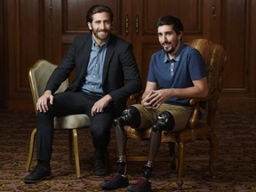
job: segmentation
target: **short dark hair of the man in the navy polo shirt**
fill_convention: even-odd
[[[180,31],[183,32],[184,30],[181,21],[178,18],[173,17],[171,15],[161,17],[156,21],[156,28],[163,25],[172,25],[172,28],[177,35],[180,35]]]

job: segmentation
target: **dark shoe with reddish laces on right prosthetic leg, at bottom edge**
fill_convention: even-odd
[[[129,185],[127,190],[130,192],[150,192],[151,182],[149,182],[146,178],[141,177],[134,185]]]

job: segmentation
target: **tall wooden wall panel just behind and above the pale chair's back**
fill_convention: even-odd
[[[28,69],[35,64],[42,53],[41,42],[41,7],[35,0],[26,0],[28,4],[18,4],[17,28],[19,33],[17,48],[19,50],[19,65],[16,79],[17,92],[28,91]],[[36,17],[35,17],[36,16]],[[12,70],[11,70],[12,71]],[[16,93],[16,92],[15,92]]]

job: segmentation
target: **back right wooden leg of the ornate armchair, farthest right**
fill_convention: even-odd
[[[211,145],[209,171],[212,173],[212,179],[215,179],[216,175],[215,175],[214,164],[217,156],[218,140],[214,133],[212,134],[212,137],[209,139],[209,141]]]

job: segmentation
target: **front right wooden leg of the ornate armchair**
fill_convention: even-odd
[[[184,143],[180,141],[179,142],[179,159],[178,159],[178,180],[177,180],[177,185],[179,190],[182,190],[182,185],[183,185],[183,179],[182,179],[183,164],[184,164]]]

